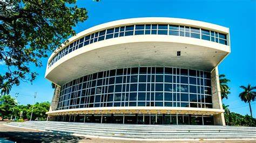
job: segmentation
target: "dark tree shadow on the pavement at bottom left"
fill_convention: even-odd
[[[15,142],[79,142],[91,140],[90,138],[77,137],[69,134],[51,132],[0,132],[0,138]]]

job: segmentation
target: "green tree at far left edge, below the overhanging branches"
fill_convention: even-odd
[[[12,113],[16,104],[15,99],[10,95],[4,95],[0,98],[0,113],[2,115],[2,120]]]

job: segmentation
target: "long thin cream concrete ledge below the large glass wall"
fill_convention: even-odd
[[[223,113],[223,109],[210,108],[179,108],[179,107],[147,107],[147,106],[128,106],[128,107],[104,107],[104,108],[78,108],[55,110],[46,112],[48,115],[84,115],[89,113],[94,114],[131,114],[131,113],[165,113],[165,114],[191,114],[191,115],[218,115]]]

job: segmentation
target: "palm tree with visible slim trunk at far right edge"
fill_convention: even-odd
[[[239,94],[239,97],[241,98],[241,100],[245,103],[249,103],[250,106],[250,112],[251,112],[251,116],[252,116],[252,108],[251,108],[251,102],[253,102],[255,100],[255,96],[256,96],[256,92],[253,91],[256,89],[256,87],[252,87],[251,84],[248,84],[247,87],[245,86],[240,86],[240,88],[244,89],[244,91],[242,91]]]

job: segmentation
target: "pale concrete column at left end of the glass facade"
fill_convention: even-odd
[[[56,85],[49,111],[55,111],[57,109],[58,101],[59,101],[59,94],[60,94],[60,87],[58,85]],[[55,116],[48,115],[48,119],[55,120]]]

